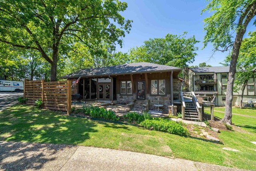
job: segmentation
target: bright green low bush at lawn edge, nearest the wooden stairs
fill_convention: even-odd
[[[140,123],[146,129],[172,133],[176,135],[189,135],[188,129],[182,127],[181,124],[163,118],[146,119]]]

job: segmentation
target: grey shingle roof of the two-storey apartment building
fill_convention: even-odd
[[[221,72],[229,72],[229,66],[213,66],[213,67],[196,67],[196,68],[189,68],[194,73],[221,73]]]

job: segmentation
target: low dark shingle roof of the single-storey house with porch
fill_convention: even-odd
[[[181,68],[172,66],[152,64],[148,62],[138,62],[131,64],[122,64],[116,66],[106,66],[100,68],[84,68],[78,70],[62,78],[78,78],[78,77],[90,77],[90,76],[108,76],[108,75],[120,75],[120,74],[133,74],[133,73],[147,73],[147,72],[167,72],[167,71],[180,71]]]

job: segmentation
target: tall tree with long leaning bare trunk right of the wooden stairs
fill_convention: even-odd
[[[204,46],[211,42],[214,50],[222,52],[232,48],[228,84],[226,93],[225,115],[221,122],[232,124],[232,100],[234,76],[243,36],[250,21],[256,15],[256,0],[212,0],[203,12],[214,12],[204,19],[206,36]],[[256,22],[253,23],[254,25]],[[235,32],[235,39],[233,35]]]

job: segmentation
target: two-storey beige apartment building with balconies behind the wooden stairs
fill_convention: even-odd
[[[197,67],[188,69],[189,91],[210,97],[216,94],[215,105],[226,104],[226,89],[228,82],[229,66]],[[236,76],[235,76],[236,77]],[[240,105],[242,91],[233,92],[233,105]],[[255,80],[251,78],[244,90],[243,103],[252,100],[256,103]]]

